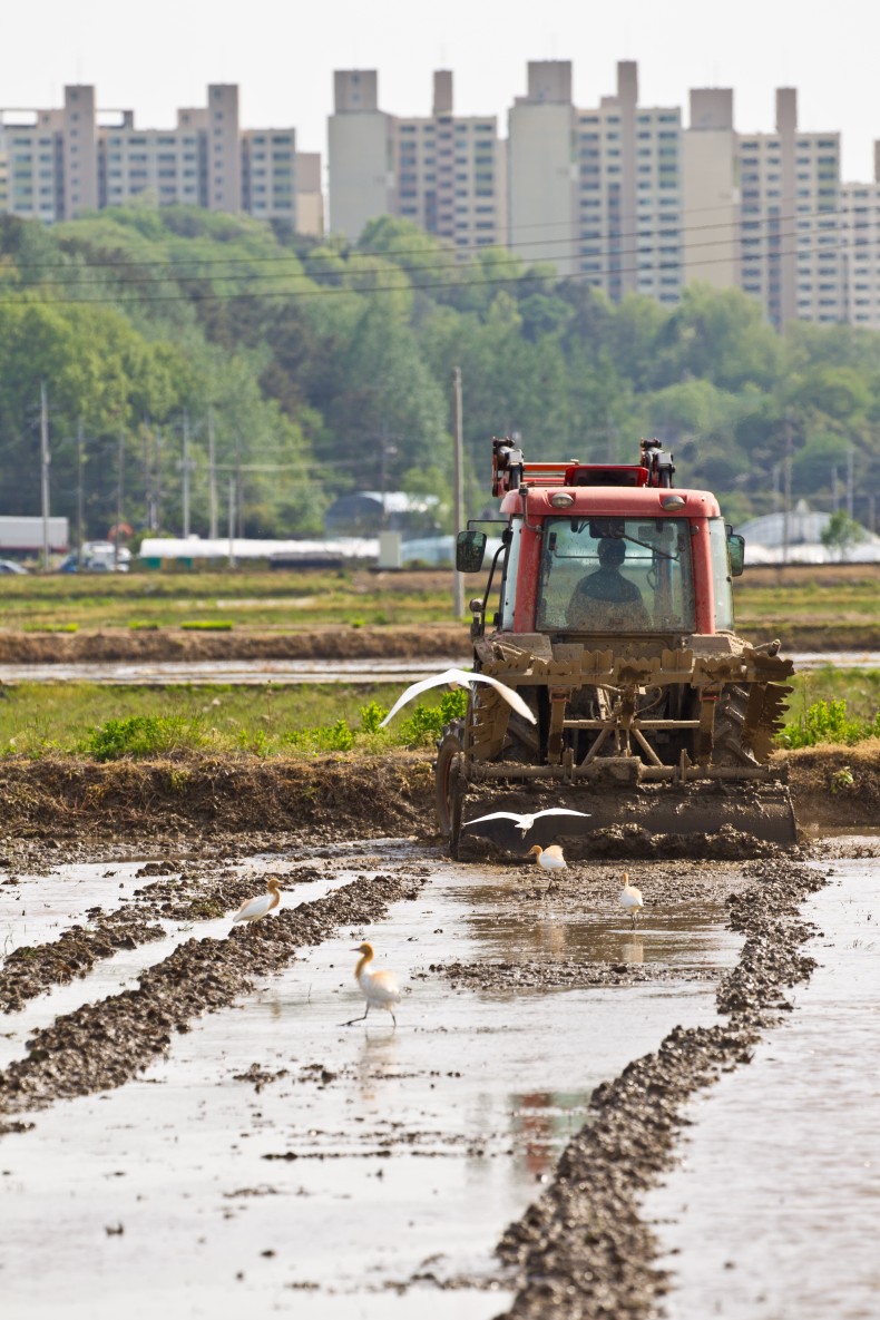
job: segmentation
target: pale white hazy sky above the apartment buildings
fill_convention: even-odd
[[[880,137],[876,0],[41,0],[4,5],[0,106],[61,103],[95,83],[103,108],[168,127],[208,82],[237,82],[244,127],[298,131],[326,150],[334,69],[377,69],[380,106],[430,110],[431,73],[455,73],[455,110],[495,114],[525,91],[528,59],[571,59],[574,99],[613,91],[637,59],[644,104],[687,106],[690,87],[735,88],[736,127],[773,128],[773,91],[800,90],[805,129],[840,129],[847,180],[872,177]]]

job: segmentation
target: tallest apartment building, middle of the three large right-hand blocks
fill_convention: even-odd
[[[613,302],[677,302],[682,268],[682,125],[677,107],[639,104],[632,61],[592,110],[571,100],[571,65],[528,66],[508,116],[511,247],[551,261]]]

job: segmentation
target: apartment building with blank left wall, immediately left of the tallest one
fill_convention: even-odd
[[[434,74],[431,114],[409,119],[379,108],[376,70],[338,70],[327,160],[330,228],[351,242],[380,215],[409,219],[462,252],[507,239],[497,120],[454,114],[447,69]]]

